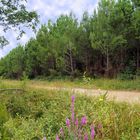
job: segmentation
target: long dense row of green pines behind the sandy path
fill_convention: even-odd
[[[140,75],[140,1],[101,0],[79,21],[73,13],[42,25],[0,60],[0,76]]]

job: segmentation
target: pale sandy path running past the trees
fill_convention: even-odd
[[[87,96],[99,96],[107,92],[107,98],[109,100],[115,100],[119,102],[140,103],[140,92],[136,91],[114,91],[114,90],[96,90],[96,89],[84,89],[84,88],[63,88],[63,87],[48,87],[45,85],[30,85],[32,88],[47,89],[47,90],[64,90],[73,93],[85,94]]]

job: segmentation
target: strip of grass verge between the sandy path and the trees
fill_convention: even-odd
[[[22,82],[16,80],[3,80],[7,86],[20,86]],[[28,81],[31,86],[49,86],[49,87],[76,87],[76,88],[92,88],[92,89],[105,89],[105,90],[135,90],[140,91],[140,79],[137,80],[118,80],[118,79],[91,79],[84,81],[83,79],[69,79],[58,80],[31,80]]]

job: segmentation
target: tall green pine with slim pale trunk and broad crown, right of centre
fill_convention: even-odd
[[[114,53],[114,50],[116,50],[118,46],[123,46],[126,43],[123,34],[118,32],[118,28],[113,27],[116,25],[116,20],[111,23],[113,21],[112,18],[116,18],[116,14],[118,14],[116,13],[117,10],[114,12],[115,6],[116,3],[114,0],[101,0],[98,12],[94,12],[92,21],[93,31],[90,36],[92,47],[100,50],[106,57],[106,76],[109,76],[110,70],[112,69],[110,57]]]

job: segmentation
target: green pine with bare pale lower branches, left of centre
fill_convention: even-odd
[[[51,49],[54,49],[56,66],[61,71],[73,75],[75,72],[75,54],[77,47],[77,19],[70,14],[61,15],[53,30],[50,31]],[[50,47],[50,46],[49,46]]]

